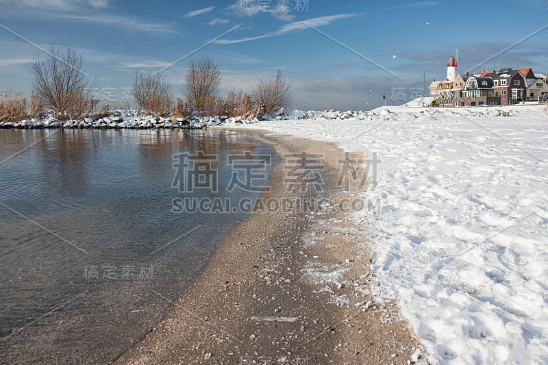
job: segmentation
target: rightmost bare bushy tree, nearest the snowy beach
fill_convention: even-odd
[[[258,116],[271,116],[282,108],[291,108],[293,100],[290,88],[291,81],[284,77],[281,68],[278,68],[274,79],[259,79],[253,88],[253,100],[257,106]]]

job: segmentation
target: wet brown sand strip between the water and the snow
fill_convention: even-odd
[[[325,194],[340,201],[351,195],[336,186],[345,154],[335,144],[241,132],[272,144],[280,156],[324,156],[327,192],[321,197],[288,192],[283,184],[288,170],[280,163],[271,172],[271,191],[261,195],[264,201]],[[348,214],[256,210],[223,240],[162,323],[117,362],[407,364],[420,344],[396,303],[375,303],[364,290],[372,257],[364,249],[362,228]],[[342,277],[332,281],[327,273],[336,270]]]

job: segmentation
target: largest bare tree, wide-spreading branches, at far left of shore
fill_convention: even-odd
[[[51,45],[45,60],[38,53],[29,64],[34,93],[61,116],[77,118],[92,112],[99,103],[92,95],[97,78],[91,81],[83,66],[82,55],[75,49],[63,52]]]

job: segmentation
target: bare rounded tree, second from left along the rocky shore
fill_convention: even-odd
[[[147,73],[137,71],[133,81],[133,96],[141,110],[147,110],[160,116],[171,113],[173,108],[173,90],[162,74],[151,68]]]

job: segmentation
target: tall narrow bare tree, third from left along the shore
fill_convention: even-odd
[[[211,112],[206,106],[211,104],[211,97],[216,97],[221,85],[219,65],[208,56],[200,60],[191,60],[186,72],[184,95],[192,110],[199,113]]]

